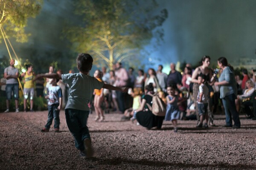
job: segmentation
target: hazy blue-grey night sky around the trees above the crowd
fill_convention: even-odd
[[[255,58],[256,0],[157,0],[159,7],[168,10],[163,23],[164,41],[148,58],[151,63],[170,62],[197,64],[203,55],[212,62],[224,56],[228,60],[239,57]],[[76,22],[71,1],[45,0],[40,14],[29,19],[27,31],[32,33],[28,43],[13,45],[20,57],[26,58],[26,47],[41,51],[67,49],[60,39],[66,20]],[[148,51],[152,45],[145,49]],[[8,56],[4,43],[0,57]],[[158,62],[155,58],[160,57]],[[149,62],[145,59],[145,62]],[[157,67],[156,67],[157,68]]]

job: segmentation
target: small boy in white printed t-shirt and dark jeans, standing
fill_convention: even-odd
[[[48,101],[48,120],[47,124],[41,130],[41,132],[49,132],[49,128],[52,125],[52,119],[54,119],[54,131],[60,132],[60,110],[62,106],[62,91],[60,86],[57,85],[59,79],[50,79],[49,84],[52,85],[48,88],[49,95],[45,96]]]

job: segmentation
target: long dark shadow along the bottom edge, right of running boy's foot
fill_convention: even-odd
[[[150,161],[147,159],[131,160],[124,158],[92,158],[91,161],[99,161],[101,164],[106,165],[122,165],[122,164],[137,164],[137,165],[148,165],[151,167],[177,167],[177,168],[224,168],[224,169],[255,169],[255,166],[247,164],[227,164],[227,163],[215,163],[215,164],[186,164],[186,163],[175,163],[165,161]]]

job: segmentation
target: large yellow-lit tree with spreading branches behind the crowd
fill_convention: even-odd
[[[166,9],[155,14],[154,0],[76,0],[74,5],[82,21],[64,29],[71,48],[93,54],[109,68],[125,59],[139,62],[145,45],[163,37],[159,26],[168,14]]]

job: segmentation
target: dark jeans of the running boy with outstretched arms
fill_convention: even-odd
[[[90,138],[87,127],[87,119],[90,111],[81,111],[76,109],[65,109],[67,127],[74,136],[76,148],[84,150],[83,141]]]

